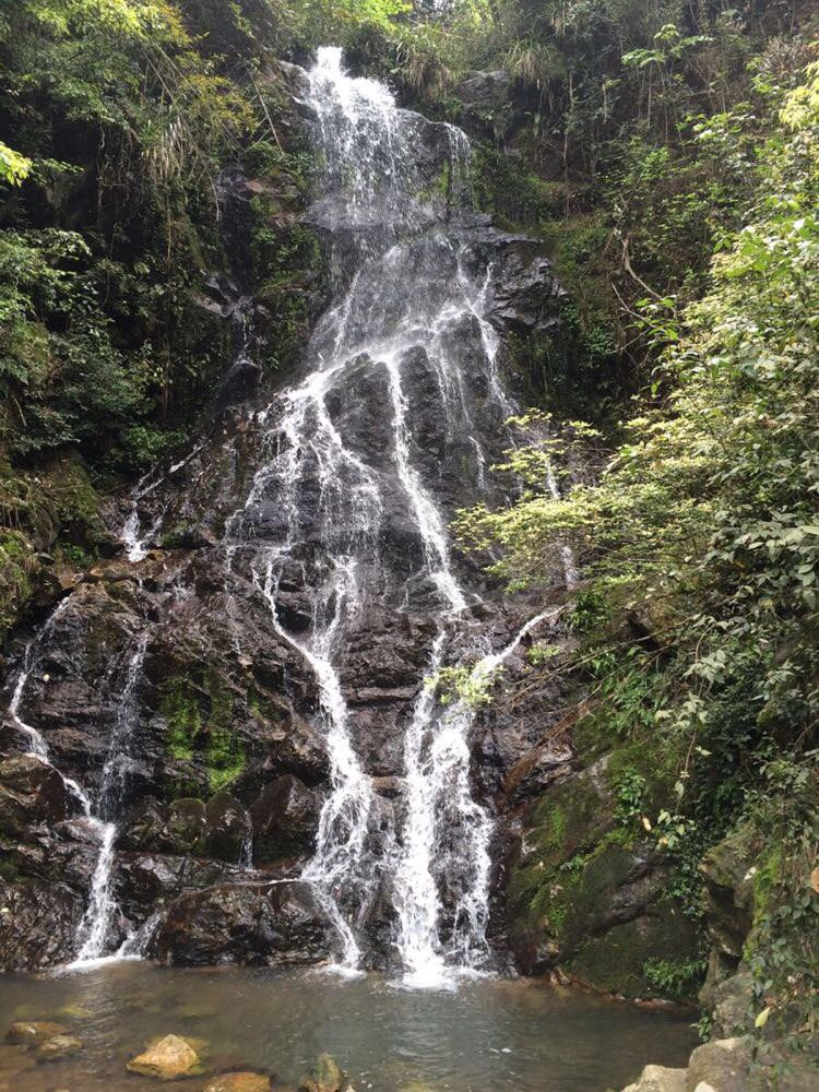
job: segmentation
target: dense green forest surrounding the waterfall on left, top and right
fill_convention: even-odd
[[[309,183],[280,142],[273,58],[356,69],[473,139],[479,206],[543,239],[563,336],[512,346],[546,436],[460,514],[464,549],[537,587],[581,571],[567,715],[640,741],[626,826],[698,862],[764,835],[753,1013],[808,1037],[817,990],[819,16],[798,0],[4,0],[0,3],[0,626],[36,602],[34,553],[80,567],[96,491],[210,413],[225,344],[193,304],[226,256],[225,167]],[[475,106],[464,84],[494,73]],[[284,146],[283,146],[284,144]],[[274,308],[265,368],[306,318],[297,234],[253,225]],[[277,331],[277,333],[276,333]],[[68,461],[71,479],[56,470]],[[578,473],[578,464],[585,467]],[[561,483],[545,487],[550,468]],[[55,484],[57,482],[57,484]],[[49,491],[50,490],[50,491]],[[45,515],[44,515],[45,511]],[[46,520],[47,518],[47,520]],[[48,520],[57,530],[36,550]],[[656,771],[655,771],[656,772]],[[702,966],[689,968],[695,977]],[[794,1018],[794,1012],[797,1016]],[[761,1022],[760,1022],[761,1020]]]

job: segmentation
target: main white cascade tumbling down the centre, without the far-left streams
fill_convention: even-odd
[[[226,549],[232,563],[250,550],[276,630],[319,686],[332,792],[302,877],[335,924],[342,964],[355,970],[361,963],[360,931],[385,890],[407,983],[440,985],[455,970],[483,965],[488,952],[491,820],[471,790],[473,716],[463,703],[442,711],[422,687],[406,728],[402,800],[388,814],[356,750],[343,685],[345,641],[371,595],[400,583],[397,609],[420,604],[435,619],[428,662],[435,673],[476,598],[453,566],[447,517],[418,459],[423,441],[412,405],[418,359],[436,384],[448,441],[471,448],[477,492],[486,456],[473,419],[475,373],[498,428],[512,404],[497,375],[498,337],[483,314],[489,271],[479,278],[467,273],[465,245],[446,226],[467,189],[463,134],[439,127],[449,205],[442,213],[441,202],[423,193],[419,119],[400,110],[382,85],[347,76],[340,50],[320,51],[308,104],[324,168],[313,217],[330,237],[336,300],[308,348],[313,370],[265,412],[271,455],[228,525]],[[387,450],[375,460],[356,442],[355,429],[348,438],[333,419],[345,384],[361,371],[380,377],[385,396]],[[384,548],[396,494],[399,518],[417,544],[417,568],[401,579]],[[285,513],[285,541],[266,547],[257,526],[265,502]],[[286,622],[281,592],[294,566],[310,589],[307,633]]]

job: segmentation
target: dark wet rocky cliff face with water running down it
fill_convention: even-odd
[[[305,78],[292,78],[305,124],[330,123]],[[356,108],[365,128],[375,123]],[[366,963],[390,958],[408,728],[435,650],[458,663],[502,649],[539,606],[501,601],[436,536],[491,489],[487,467],[507,442],[498,336],[554,327],[560,294],[535,242],[464,206],[453,132],[403,112],[401,124],[416,152],[406,204],[377,190],[384,204],[363,210],[330,164],[304,215],[325,238],[336,287],[299,370],[256,390],[246,337],[224,408],[198,442],[108,505],[127,550],[21,634],[0,737],[7,968],[66,962],[83,937],[87,951],[100,907],[96,954],[130,945],[181,963],[311,962],[337,949],[341,922]],[[210,307],[235,319],[238,304],[221,293],[214,282]],[[388,352],[396,330],[403,340]],[[335,371],[341,381],[324,382]],[[339,577],[347,570],[354,584]],[[332,746],[336,698],[366,782],[360,822],[360,799],[333,812],[348,774]],[[566,772],[569,752],[545,746],[544,727],[536,713],[499,712],[463,728],[459,792],[480,816]],[[434,735],[419,737],[422,764]],[[458,811],[447,826],[447,787],[429,804],[444,871],[478,815]],[[491,882],[502,886],[503,826],[494,829]],[[355,868],[333,874],[332,890],[300,879],[317,843],[332,870],[354,834],[372,862],[366,883]],[[459,917],[467,871],[463,890],[437,881],[450,938],[471,928]]]

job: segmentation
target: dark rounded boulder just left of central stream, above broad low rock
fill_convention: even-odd
[[[293,774],[271,782],[253,802],[253,860],[270,864],[307,852],[321,812],[318,793]]]

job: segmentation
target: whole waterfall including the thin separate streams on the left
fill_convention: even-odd
[[[492,966],[494,821],[473,783],[475,714],[464,701],[439,704],[425,678],[471,662],[476,649],[474,673],[490,676],[545,617],[491,652],[497,634],[485,632],[477,569],[448,532],[459,506],[486,496],[487,468],[515,412],[487,317],[496,274],[475,242],[460,130],[400,109],[376,81],[351,78],[339,49],[320,50],[304,97],[319,174],[306,219],[325,245],[331,301],[295,378],[268,405],[244,406],[241,429],[226,442],[227,426],[212,429],[180,461],[151,471],[123,513],[126,556],[140,569],[122,651],[99,680],[106,700],[117,699],[108,750],[93,802],[66,780],[99,845],[72,965],[104,958],[119,939],[115,844],[138,758],[145,656],[154,637],[155,655],[173,650],[167,634],[189,618],[174,619],[174,608],[197,606],[201,557],[224,593],[224,615],[207,621],[222,629],[225,655],[252,669],[257,626],[283,676],[285,665],[305,668],[295,673],[298,714],[320,732],[329,784],[300,877],[333,926],[336,968],[357,974],[399,962],[403,984],[448,987]],[[258,347],[251,307],[242,296],[232,312],[242,368]],[[164,523],[189,511],[183,497],[177,507],[171,479],[187,467],[190,491],[210,484],[218,444],[237,460],[244,444],[252,476],[225,472],[229,458],[216,462],[226,508],[207,523],[189,568],[170,555],[149,557]],[[156,577],[159,566],[174,573],[173,586]],[[154,577],[143,582],[142,572]],[[10,707],[45,761],[46,741],[20,715],[21,702],[68,602],[26,648]],[[383,653],[387,666],[383,649],[394,653]],[[373,727],[373,716],[383,724]],[[244,792],[237,787],[242,800]],[[240,866],[252,860],[249,839]],[[117,956],[139,953],[161,914],[138,924]]]

